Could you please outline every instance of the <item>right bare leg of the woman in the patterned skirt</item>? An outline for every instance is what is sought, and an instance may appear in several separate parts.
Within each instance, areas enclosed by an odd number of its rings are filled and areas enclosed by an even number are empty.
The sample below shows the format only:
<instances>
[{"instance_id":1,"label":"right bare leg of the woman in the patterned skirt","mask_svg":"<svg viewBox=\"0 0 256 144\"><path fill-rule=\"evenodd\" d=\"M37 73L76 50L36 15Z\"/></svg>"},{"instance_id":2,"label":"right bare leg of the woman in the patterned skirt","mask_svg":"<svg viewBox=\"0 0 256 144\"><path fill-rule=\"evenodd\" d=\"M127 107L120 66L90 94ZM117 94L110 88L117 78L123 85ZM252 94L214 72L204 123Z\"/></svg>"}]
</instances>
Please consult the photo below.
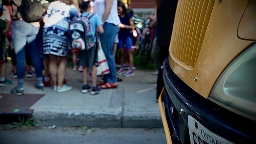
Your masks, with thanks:
<instances>
[{"instance_id":1,"label":"right bare leg of the woman in the patterned skirt","mask_svg":"<svg viewBox=\"0 0 256 144\"><path fill-rule=\"evenodd\" d=\"M58 87L63 87L63 80L66 74L66 57L59 57L59 67L57 71Z\"/></svg>"}]
</instances>

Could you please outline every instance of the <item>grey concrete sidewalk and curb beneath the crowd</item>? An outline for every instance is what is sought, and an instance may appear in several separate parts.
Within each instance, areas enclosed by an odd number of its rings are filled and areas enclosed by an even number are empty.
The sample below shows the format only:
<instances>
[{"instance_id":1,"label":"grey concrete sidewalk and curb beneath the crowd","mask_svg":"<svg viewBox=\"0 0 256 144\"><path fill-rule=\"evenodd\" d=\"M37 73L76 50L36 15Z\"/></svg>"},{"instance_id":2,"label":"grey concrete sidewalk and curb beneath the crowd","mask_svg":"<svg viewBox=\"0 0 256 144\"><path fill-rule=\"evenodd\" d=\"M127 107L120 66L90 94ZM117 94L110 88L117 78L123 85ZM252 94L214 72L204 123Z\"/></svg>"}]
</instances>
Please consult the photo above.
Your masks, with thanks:
<instances>
[{"instance_id":1,"label":"grey concrete sidewalk and curb beneath the crowd","mask_svg":"<svg viewBox=\"0 0 256 144\"><path fill-rule=\"evenodd\" d=\"M10 78L11 64L7 77ZM82 73L67 68L67 85L73 89L57 93L52 87L45 91L34 88L36 77L25 78L24 93L44 94L34 103L33 118L39 126L91 126L91 127L162 127L156 100L157 76L151 71L135 70L131 77L123 79L116 89L104 89L98 95L81 93ZM10 78L11 79L11 78ZM100 81L101 77L98 77ZM0 93L10 93L17 84L0 87ZM91 77L89 76L89 85Z\"/></svg>"}]
</instances>

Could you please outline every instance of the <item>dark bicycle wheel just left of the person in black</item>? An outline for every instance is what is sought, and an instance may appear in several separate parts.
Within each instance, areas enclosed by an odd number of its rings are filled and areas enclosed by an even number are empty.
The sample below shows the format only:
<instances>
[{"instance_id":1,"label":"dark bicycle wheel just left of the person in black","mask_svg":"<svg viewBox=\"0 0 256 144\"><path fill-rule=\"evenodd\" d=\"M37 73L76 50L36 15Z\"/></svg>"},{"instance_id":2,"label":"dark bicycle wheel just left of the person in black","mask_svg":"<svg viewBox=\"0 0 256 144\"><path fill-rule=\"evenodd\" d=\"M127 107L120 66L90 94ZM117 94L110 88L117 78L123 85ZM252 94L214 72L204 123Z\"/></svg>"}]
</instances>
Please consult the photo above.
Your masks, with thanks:
<instances>
[{"instance_id":1,"label":"dark bicycle wheel just left of the person in black","mask_svg":"<svg viewBox=\"0 0 256 144\"><path fill-rule=\"evenodd\" d=\"M140 63L147 65L151 57L152 40L150 38L145 40L144 47L141 48Z\"/></svg>"}]
</instances>

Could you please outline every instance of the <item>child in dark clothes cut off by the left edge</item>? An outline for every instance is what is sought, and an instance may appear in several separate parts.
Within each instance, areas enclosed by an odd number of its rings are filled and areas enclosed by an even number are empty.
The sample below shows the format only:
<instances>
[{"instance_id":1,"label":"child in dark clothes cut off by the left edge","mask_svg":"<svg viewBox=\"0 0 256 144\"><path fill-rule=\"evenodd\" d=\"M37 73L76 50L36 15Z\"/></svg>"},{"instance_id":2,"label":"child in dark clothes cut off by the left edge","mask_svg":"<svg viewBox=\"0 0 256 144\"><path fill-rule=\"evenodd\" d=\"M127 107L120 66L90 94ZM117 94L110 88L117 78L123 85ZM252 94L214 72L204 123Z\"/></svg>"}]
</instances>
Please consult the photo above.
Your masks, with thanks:
<instances>
[{"instance_id":1,"label":"child in dark clothes cut off by the left edge","mask_svg":"<svg viewBox=\"0 0 256 144\"><path fill-rule=\"evenodd\" d=\"M3 6L0 5L0 17L3 15ZM9 31L9 21L0 19L0 86L10 86L13 84L11 80L5 78L6 72L6 54L5 37Z\"/></svg>"}]
</instances>

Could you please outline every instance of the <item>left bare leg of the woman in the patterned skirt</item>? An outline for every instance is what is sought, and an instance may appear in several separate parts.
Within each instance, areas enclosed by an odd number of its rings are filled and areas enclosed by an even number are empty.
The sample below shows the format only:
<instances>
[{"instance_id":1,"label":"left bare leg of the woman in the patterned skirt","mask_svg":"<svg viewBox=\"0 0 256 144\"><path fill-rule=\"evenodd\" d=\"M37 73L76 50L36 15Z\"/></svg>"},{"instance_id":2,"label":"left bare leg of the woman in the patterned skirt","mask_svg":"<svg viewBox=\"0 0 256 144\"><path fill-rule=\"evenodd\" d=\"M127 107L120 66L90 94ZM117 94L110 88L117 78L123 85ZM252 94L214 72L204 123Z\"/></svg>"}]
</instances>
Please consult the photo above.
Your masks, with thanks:
<instances>
[{"instance_id":1,"label":"left bare leg of the woman in the patterned skirt","mask_svg":"<svg viewBox=\"0 0 256 144\"><path fill-rule=\"evenodd\" d=\"M50 72L51 78L53 80L54 86L57 85L57 71L58 71L57 56L50 55L49 72Z\"/></svg>"}]
</instances>

